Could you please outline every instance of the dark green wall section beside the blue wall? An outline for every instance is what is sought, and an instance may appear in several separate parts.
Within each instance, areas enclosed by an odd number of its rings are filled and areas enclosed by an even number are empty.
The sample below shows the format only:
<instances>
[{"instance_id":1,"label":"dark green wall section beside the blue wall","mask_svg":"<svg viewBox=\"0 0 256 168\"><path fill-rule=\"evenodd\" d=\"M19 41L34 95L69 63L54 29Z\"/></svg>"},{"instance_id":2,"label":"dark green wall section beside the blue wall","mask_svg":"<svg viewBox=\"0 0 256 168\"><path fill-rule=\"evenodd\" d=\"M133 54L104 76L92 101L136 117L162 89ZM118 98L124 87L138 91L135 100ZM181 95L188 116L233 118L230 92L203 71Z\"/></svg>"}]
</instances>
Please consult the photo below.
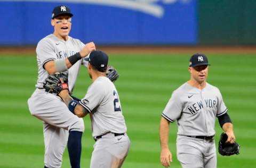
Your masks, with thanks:
<instances>
[{"instance_id":1,"label":"dark green wall section beside the blue wall","mask_svg":"<svg viewBox=\"0 0 256 168\"><path fill-rule=\"evenodd\" d=\"M198 11L198 44L256 44L256 1L198 1Z\"/></svg>"}]
</instances>

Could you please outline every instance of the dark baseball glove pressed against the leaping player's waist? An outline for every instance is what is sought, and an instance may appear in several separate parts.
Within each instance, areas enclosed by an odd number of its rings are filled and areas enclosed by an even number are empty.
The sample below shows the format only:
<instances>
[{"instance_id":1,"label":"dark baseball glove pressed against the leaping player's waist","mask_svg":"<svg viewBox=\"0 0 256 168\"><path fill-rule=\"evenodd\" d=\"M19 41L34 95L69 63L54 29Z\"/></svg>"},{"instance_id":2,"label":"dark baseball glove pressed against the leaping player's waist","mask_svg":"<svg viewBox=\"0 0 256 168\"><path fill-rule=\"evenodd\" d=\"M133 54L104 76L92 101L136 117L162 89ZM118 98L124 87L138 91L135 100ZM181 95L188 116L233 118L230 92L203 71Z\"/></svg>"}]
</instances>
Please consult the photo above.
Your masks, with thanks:
<instances>
[{"instance_id":1,"label":"dark baseball glove pressed against the leaping player's waist","mask_svg":"<svg viewBox=\"0 0 256 168\"><path fill-rule=\"evenodd\" d=\"M43 87L45 91L55 94L59 94L61 90L68 89L68 72L57 72L49 75L49 77L45 79Z\"/></svg>"}]
</instances>

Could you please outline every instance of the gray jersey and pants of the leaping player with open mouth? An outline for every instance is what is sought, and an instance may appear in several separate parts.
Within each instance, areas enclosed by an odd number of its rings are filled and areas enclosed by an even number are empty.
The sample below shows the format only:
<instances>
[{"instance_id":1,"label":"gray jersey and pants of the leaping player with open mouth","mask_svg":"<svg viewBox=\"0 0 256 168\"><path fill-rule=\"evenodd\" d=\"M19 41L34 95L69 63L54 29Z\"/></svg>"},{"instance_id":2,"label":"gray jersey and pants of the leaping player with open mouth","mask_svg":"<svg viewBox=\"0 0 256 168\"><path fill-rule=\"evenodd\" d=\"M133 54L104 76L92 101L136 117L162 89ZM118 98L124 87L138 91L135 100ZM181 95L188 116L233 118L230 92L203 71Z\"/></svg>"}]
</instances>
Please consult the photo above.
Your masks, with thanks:
<instances>
[{"instance_id":1,"label":"gray jersey and pants of the leaping player with open mouth","mask_svg":"<svg viewBox=\"0 0 256 168\"><path fill-rule=\"evenodd\" d=\"M61 167L62 155L65 151L68 131L84 131L83 119L72 114L59 96L46 93L43 82L49 73L44 69L44 64L50 60L67 58L81 51L84 44L72 37L67 41L58 39L51 34L39 41L36 47L38 80L36 90L28 99L29 111L32 115L43 121L45 155L44 163L47 167ZM68 69L68 85L72 91L77 74L84 60L77 61Z\"/></svg>"}]
</instances>

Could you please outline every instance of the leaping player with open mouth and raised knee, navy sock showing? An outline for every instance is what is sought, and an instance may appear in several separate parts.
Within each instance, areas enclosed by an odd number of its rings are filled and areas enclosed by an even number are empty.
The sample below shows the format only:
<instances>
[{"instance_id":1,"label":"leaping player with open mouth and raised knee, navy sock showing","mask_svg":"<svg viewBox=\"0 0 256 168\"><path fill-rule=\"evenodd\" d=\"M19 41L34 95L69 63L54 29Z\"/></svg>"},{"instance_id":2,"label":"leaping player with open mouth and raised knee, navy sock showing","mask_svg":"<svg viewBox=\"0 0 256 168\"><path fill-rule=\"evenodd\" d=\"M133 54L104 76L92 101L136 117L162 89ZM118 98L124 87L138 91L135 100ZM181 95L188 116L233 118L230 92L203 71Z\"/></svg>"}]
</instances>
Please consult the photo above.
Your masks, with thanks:
<instances>
[{"instance_id":1,"label":"leaping player with open mouth and raised knee, navy sock showing","mask_svg":"<svg viewBox=\"0 0 256 168\"><path fill-rule=\"evenodd\" d=\"M93 42L83 44L68 36L72 16L68 6L53 9L51 24L54 32L37 44L38 80L36 90L28 99L30 113L43 121L44 167L49 168L61 167L67 144L71 167L80 167L84 122L69 112L59 96L46 93L43 88L49 74L68 71L68 89L71 93L81 64L86 64L83 58L95 50Z\"/></svg>"}]
</instances>

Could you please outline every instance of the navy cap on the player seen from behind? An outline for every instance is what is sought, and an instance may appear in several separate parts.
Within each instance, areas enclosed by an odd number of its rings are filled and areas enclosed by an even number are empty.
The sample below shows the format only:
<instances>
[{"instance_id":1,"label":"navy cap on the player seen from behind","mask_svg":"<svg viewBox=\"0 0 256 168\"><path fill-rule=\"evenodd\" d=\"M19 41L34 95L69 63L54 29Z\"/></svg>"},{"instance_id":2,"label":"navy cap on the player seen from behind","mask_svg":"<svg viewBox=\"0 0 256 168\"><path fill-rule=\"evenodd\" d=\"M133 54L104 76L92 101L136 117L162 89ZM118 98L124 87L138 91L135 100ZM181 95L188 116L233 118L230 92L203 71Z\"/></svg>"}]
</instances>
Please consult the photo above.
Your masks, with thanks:
<instances>
[{"instance_id":1,"label":"navy cap on the player seen from behind","mask_svg":"<svg viewBox=\"0 0 256 168\"><path fill-rule=\"evenodd\" d=\"M84 60L89 61L100 72L105 72L108 67L108 55L99 50L91 52Z\"/></svg>"}]
</instances>

